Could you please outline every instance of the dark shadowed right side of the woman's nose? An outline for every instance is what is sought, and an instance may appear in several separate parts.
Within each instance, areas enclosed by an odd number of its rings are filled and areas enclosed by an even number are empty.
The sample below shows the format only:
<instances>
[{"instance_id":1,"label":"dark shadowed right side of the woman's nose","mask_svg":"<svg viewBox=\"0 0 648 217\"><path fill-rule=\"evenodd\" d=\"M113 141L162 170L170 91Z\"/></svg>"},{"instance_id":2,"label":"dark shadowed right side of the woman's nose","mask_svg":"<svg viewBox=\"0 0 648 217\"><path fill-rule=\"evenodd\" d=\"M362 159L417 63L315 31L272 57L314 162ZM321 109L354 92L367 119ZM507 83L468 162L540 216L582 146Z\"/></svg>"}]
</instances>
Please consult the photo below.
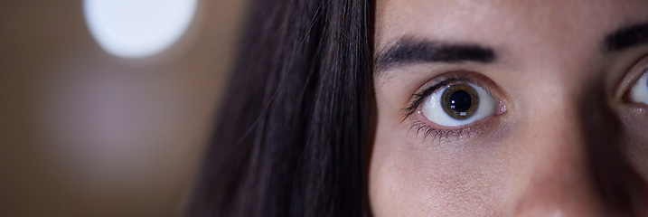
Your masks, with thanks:
<instances>
[{"instance_id":1,"label":"dark shadowed right side of the woman's nose","mask_svg":"<svg viewBox=\"0 0 648 217\"><path fill-rule=\"evenodd\" d=\"M645 207L646 186L627 159L623 127L603 91L590 87L579 100L589 176L608 212L637 216Z\"/></svg>"}]
</instances>

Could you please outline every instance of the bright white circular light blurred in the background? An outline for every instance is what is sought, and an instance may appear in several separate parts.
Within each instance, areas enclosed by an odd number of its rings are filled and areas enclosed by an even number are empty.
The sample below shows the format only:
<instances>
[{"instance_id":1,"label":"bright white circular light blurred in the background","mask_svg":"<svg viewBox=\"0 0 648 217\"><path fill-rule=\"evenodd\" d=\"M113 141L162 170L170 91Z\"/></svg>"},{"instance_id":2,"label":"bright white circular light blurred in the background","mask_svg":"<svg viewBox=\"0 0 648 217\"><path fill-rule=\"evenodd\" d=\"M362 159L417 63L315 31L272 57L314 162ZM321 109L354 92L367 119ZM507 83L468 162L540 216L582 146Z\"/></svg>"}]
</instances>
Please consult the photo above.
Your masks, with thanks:
<instances>
[{"instance_id":1,"label":"bright white circular light blurred in the background","mask_svg":"<svg viewBox=\"0 0 648 217\"><path fill-rule=\"evenodd\" d=\"M84 0L90 33L107 52L140 58L162 52L191 24L197 0Z\"/></svg>"}]
</instances>

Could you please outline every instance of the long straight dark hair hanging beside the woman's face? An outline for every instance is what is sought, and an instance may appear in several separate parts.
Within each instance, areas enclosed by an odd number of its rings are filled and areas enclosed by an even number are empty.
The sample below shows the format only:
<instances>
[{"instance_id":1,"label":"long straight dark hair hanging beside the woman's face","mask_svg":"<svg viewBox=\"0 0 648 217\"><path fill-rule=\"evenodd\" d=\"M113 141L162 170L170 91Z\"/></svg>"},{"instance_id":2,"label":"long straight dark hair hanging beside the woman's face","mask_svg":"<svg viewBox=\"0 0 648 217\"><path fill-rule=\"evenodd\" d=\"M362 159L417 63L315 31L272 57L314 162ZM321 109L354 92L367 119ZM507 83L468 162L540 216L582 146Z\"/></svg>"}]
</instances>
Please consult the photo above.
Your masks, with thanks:
<instances>
[{"instance_id":1,"label":"long straight dark hair hanging beside the woman's face","mask_svg":"<svg viewBox=\"0 0 648 217\"><path fill-rule=\"evenodd\" d=\"M361 216L374 4L256 0L189 216Z\"/></svg>"}]
</instances>

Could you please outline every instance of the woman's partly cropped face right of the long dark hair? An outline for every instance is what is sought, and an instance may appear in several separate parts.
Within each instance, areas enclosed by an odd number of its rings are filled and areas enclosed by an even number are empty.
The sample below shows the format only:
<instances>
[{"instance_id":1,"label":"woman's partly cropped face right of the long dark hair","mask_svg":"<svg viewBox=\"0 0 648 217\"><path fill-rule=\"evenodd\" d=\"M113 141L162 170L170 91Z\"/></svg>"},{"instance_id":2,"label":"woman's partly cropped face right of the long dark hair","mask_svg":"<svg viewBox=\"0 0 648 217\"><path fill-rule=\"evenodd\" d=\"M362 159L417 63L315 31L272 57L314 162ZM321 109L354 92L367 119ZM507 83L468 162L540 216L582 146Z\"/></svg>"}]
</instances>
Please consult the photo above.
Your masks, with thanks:
<instances>
[{"instance_id":1,"label":"woman's partly cropped face right of the long dark hair","mask_svg":"<svg viewBox=\"0 0 648 217\"><path fill-rule=\"evenodd\" d=\"M375 15L375 216L648 214L648 1Z\"/></svg>"}]
</instances>

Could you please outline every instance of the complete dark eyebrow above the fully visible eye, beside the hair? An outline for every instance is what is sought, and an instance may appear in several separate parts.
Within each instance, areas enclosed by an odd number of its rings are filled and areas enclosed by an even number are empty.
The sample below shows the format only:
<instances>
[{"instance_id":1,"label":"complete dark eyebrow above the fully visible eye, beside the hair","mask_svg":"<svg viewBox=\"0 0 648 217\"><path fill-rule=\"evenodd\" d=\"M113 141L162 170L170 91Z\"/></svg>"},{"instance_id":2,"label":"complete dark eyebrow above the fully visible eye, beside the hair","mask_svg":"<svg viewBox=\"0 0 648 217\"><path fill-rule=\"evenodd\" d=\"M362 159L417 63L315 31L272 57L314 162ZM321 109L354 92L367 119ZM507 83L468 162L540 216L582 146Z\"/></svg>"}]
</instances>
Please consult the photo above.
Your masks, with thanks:
<instances>
[{"instance_id":1,"label":"complete dark eyebrow above the fully visible eye, beside the hair","mask_svg":"<svg viewBox=\"0 0 648 217\"><path fill-rule=\"evenodd\" d=\"M402 64L422 62L458 63L495 61L493 49L473 43L442 43L401 38L374 58L375 71L386 71Z\"/></svg>"}]
</instances>

